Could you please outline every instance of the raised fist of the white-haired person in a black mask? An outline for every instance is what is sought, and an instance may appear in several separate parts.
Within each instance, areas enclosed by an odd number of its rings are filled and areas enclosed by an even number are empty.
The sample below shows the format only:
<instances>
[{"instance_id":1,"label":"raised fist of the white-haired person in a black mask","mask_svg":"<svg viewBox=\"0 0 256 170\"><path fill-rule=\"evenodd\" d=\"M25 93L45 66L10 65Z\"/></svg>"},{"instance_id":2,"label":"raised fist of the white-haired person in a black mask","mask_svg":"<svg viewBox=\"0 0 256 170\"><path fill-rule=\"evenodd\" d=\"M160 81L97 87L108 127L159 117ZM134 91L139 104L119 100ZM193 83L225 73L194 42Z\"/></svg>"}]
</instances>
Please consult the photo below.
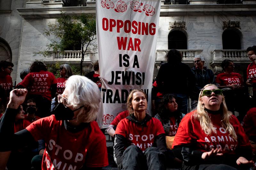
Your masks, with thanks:
<instances>
[{"instance_id":1,"label":"raised fist of the white-haired person in a black mask","mask_svg":"<svg viewBox=\"0 0 256 170\"><path fill-rule=\"evenodd\" d=\"M7 108L17 109L25 100L27 89L14 89L10 92L10 101Z\"/></svg>"}]
</instances>

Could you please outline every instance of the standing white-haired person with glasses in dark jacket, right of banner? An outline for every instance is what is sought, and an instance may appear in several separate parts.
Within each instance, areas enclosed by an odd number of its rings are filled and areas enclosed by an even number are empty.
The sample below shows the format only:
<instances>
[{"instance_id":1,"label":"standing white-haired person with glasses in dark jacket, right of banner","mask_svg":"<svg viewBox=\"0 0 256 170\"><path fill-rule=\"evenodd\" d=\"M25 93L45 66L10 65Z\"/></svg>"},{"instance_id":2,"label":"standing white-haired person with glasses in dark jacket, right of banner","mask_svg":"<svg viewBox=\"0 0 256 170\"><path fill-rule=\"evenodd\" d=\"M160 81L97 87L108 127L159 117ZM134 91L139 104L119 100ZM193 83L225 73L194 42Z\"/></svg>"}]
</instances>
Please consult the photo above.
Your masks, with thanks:
<instances>
[{"instance_id":1,"label":"standing white-haired person with glasses in dark jacket, right of banner","mask_svg":"<svg viewBox=\"0 0 256 170\"><path fill-rule=\"evenodd\" d=\"M194 76L196 78L196 86L192 90L192 92L190 92L192 109L195 109L197 106L197 102L198 102L197 99L198 99L200 89L202 89L204 85L215 83L215 77L212 70L204 67L205 62L206 60L202 55L196 55L194 58L193 63L195 64L195 66L191 70L194 73Z\"/></svg>"}]
</instances>

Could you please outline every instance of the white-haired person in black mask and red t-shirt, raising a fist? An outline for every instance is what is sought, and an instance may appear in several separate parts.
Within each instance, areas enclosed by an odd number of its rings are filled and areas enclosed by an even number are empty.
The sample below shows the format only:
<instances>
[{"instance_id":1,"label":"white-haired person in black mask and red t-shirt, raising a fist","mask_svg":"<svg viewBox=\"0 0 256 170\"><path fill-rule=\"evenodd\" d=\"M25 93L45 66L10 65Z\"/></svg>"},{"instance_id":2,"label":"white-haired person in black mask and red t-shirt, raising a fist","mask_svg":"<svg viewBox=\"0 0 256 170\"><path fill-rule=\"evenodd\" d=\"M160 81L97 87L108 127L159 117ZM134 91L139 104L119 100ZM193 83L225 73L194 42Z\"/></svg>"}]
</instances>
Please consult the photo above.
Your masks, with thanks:
<instances>
[{"instance_id":1,"label":"white-haired person in black mask and red t-shirt, raising a fist","mask_svg":"<svg viewBox=\"0 0 256 170\"><path fill-rule=\"evenodd\" d=\"M14 113L24 102L27 89L11 92L10 102L0 120L0 169L5 167L13 147L44 139L42 169L101 169L108 165L106 137L94 121L100 104L98 86L88 78L71 76L58 95L54 115L31 123L13 133Z\"/></svg>"}]
</instances>

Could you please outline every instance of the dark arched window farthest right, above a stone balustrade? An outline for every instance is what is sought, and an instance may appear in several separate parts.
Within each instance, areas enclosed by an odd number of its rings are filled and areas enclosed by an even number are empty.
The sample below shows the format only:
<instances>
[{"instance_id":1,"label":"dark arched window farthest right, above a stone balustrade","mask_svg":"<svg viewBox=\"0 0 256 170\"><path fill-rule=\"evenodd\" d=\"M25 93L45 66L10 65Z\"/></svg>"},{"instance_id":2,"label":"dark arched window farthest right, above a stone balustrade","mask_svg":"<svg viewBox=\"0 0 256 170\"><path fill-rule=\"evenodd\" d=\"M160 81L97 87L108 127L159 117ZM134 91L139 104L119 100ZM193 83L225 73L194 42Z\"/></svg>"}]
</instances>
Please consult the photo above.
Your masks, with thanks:
<instances>
[{"instance_id":1,"label":"dark arched window farthest right, above a stone balustrade","mask_svg":"<svg viewBox=\"0 0 256 170\"><path fill-rule=\"evenodd\" d=\"M234 29L226 29L222 33L222 47L223 49L241 49L242 33Z\"/></svg>"}]
</instances>

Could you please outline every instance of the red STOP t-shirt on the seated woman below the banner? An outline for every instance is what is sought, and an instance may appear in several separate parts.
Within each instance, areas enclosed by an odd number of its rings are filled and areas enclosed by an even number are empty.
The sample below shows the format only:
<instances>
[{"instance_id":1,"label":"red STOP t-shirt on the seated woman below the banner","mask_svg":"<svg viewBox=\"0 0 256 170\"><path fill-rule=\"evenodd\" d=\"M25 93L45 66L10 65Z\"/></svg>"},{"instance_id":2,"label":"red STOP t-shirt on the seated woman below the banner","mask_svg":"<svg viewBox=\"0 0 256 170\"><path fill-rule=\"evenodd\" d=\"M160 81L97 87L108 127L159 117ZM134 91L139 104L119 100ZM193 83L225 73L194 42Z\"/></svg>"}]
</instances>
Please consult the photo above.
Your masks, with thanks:
<instances>
[{"instance_id":1,"label":"red STOP t-shirt on the seated woman below the banner","mask_svg":"<svg viewBox=\"0 0 256 170\"><path fill-rule=\"evenodd\" d=\"M161 122L153 117L143 127L125 118L118 123L115 134L124 136L129 144L138 146L144 152L153 146L158 135L164 134L164 128Z\"/></svg>"}]
</instances>

